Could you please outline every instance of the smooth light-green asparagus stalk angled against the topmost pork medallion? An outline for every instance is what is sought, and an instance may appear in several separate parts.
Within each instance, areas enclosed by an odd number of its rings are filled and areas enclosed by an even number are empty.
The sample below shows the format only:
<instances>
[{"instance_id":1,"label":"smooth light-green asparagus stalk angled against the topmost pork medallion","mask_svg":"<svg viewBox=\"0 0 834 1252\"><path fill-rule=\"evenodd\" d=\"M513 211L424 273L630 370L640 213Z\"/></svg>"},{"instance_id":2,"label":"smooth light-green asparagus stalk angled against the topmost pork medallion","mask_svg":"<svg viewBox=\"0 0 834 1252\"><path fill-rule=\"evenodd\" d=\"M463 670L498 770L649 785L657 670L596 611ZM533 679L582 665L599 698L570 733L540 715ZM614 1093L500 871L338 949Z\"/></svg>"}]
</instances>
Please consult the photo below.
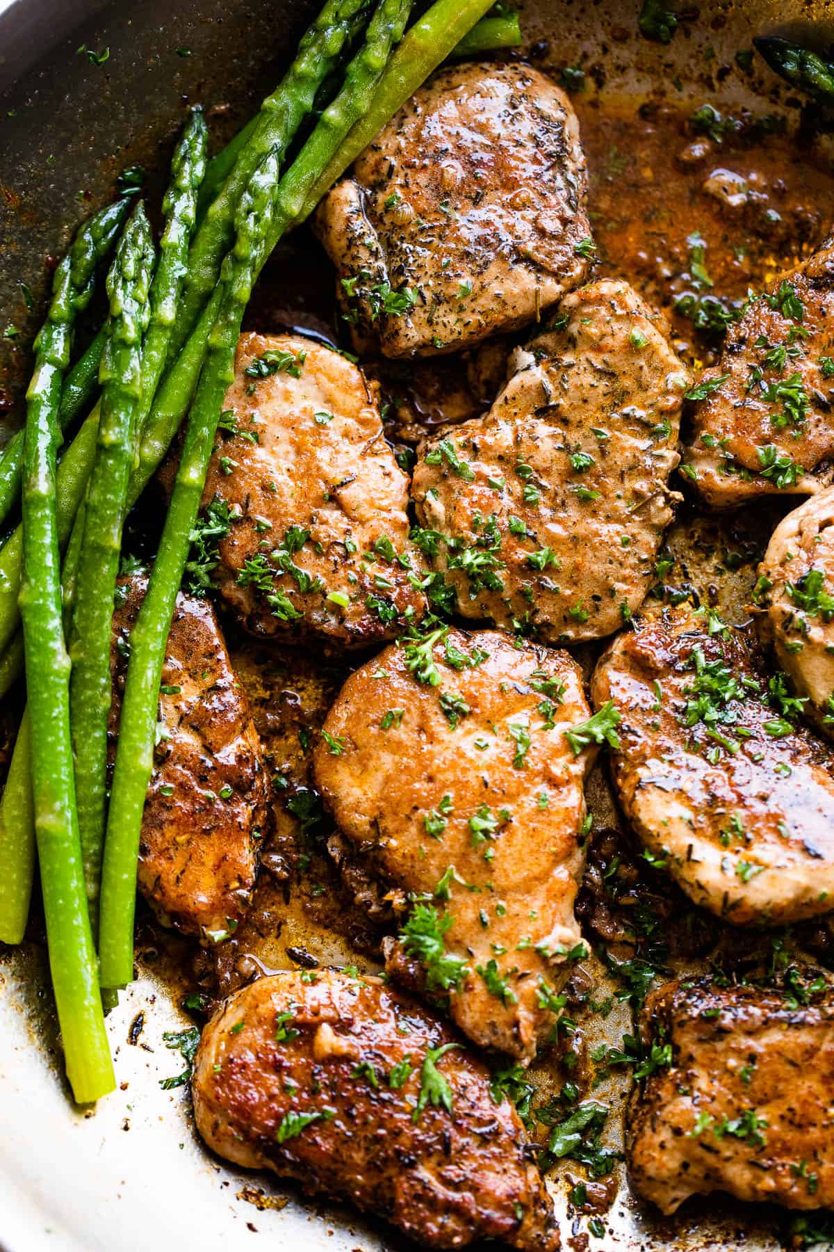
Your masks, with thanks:
<instances>
[{"instance_id":1,"label":"smooth light-green asparagus stalk angled against the topmost pork medallion","mask_svg":"<svg viewBox=\"0 0 834 1252\"><path fill-rule=\"evenodd\" d=\"M414 23L388 63L370 106L313 182L295 218L296 223L309 218L336 179L373 143L398 109L446 59L493 3L494 0L435 0Z\"/></svg>"}]
</instances>

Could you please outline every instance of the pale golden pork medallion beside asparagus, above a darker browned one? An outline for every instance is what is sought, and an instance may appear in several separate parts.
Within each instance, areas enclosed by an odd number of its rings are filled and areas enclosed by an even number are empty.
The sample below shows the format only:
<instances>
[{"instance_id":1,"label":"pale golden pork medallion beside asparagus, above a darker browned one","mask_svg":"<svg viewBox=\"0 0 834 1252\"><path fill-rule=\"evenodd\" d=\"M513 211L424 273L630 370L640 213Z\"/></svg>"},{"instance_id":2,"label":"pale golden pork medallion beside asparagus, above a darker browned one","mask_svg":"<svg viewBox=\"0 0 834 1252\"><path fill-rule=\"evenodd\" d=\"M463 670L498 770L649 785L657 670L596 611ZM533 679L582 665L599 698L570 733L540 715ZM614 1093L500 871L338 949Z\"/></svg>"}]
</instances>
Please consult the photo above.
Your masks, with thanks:
<instances>
[{"instance_id":1,"label":"pale golden pork medallion beside asparagus, above a darker browned one","mask_svg":"<svg viewBox=\"0 0 834 1252\"><path fill-rule=\"evenodd\" d=\"M246 630L363 647L419 617L406 503L361 371L310 339L241 336L203 513Z\"/></svg>"}]
</instances>

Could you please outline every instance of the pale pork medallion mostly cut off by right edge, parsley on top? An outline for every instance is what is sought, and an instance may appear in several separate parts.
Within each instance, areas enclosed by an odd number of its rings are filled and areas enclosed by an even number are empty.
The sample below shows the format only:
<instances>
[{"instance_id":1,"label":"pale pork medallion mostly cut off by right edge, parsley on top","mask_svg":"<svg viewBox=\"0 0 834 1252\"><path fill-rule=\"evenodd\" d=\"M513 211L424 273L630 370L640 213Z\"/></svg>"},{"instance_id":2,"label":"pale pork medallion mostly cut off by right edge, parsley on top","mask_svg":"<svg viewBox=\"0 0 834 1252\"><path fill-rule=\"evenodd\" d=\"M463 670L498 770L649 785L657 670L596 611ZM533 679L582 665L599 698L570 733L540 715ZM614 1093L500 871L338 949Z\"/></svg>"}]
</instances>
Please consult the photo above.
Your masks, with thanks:
<instances>
[{"instance_id":1,"label":"pale pork medallion mostly cut off by right edge, parsley on top","mask_svg":"<svg viewBox=\"0 0 834 1252\"><path fill-rule=\"evenodd\" d=\"M759 567L765 639L805 712L834 736L834 488L788 513Z\"/></svg>"}]
</instances>

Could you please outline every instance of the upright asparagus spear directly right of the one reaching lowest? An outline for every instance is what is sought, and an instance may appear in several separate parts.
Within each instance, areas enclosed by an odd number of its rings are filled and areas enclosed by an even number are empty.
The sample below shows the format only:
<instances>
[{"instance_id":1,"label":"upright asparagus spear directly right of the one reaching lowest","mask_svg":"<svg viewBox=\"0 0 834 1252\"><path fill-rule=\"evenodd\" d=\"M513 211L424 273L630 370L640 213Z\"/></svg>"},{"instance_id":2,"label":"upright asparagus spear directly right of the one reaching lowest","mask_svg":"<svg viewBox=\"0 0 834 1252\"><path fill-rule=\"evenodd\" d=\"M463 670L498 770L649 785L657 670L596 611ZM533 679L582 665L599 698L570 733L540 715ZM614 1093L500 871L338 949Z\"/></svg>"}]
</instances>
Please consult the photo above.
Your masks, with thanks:
<instances>
[{"instance_id":1,"label":"upright asparagus spear directly right of the one reaching lowest","mask_svg":"<svg viewBox=\"0 0 834 1252\"><path fill-rule=\"evenodd\" d=\"M108 274L110 316L99 381L101 413L88 486L70 630L70 726L84 878L95 934L105 824L110 634L128 483L136 457L143 337L150 318L154 240L136 204ZM165 344L163 343L163 353Z\"/></svg>"}]
</instances>

